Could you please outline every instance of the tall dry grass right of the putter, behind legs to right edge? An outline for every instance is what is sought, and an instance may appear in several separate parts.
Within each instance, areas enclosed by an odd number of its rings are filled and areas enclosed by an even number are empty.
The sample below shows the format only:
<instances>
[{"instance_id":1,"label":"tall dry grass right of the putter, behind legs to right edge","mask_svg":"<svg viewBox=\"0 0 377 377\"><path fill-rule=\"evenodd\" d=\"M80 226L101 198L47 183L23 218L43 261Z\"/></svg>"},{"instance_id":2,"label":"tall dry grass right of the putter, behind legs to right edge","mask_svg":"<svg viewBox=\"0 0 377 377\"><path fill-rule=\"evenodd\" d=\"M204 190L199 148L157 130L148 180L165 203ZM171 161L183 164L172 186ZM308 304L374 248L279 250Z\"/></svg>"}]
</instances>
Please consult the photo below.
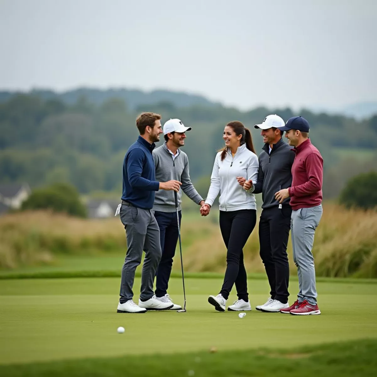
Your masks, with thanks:
<instances>
[{"instance_id":1,"label":"tall dry grass right of the putter, behind legs to right edge","mask_svg":"<svg viewBox=\"0 0 377 377\"><path fill-rule=\"evenodd\" d=\"M224 272L226 249L219 227L211 224L207 231L204 238L196 239L185 250L185 265L189 271ZM182 229L184 236L185 229ZM377 212L324 204L313 254L318 276L377 277ZM291 273L296 274L290 241L288 257ZM244 248L244 260L247 272L264 271L259 257L257 226ZM177 270L178 262L175 261Z\"/></svg>"}]
</instances>

